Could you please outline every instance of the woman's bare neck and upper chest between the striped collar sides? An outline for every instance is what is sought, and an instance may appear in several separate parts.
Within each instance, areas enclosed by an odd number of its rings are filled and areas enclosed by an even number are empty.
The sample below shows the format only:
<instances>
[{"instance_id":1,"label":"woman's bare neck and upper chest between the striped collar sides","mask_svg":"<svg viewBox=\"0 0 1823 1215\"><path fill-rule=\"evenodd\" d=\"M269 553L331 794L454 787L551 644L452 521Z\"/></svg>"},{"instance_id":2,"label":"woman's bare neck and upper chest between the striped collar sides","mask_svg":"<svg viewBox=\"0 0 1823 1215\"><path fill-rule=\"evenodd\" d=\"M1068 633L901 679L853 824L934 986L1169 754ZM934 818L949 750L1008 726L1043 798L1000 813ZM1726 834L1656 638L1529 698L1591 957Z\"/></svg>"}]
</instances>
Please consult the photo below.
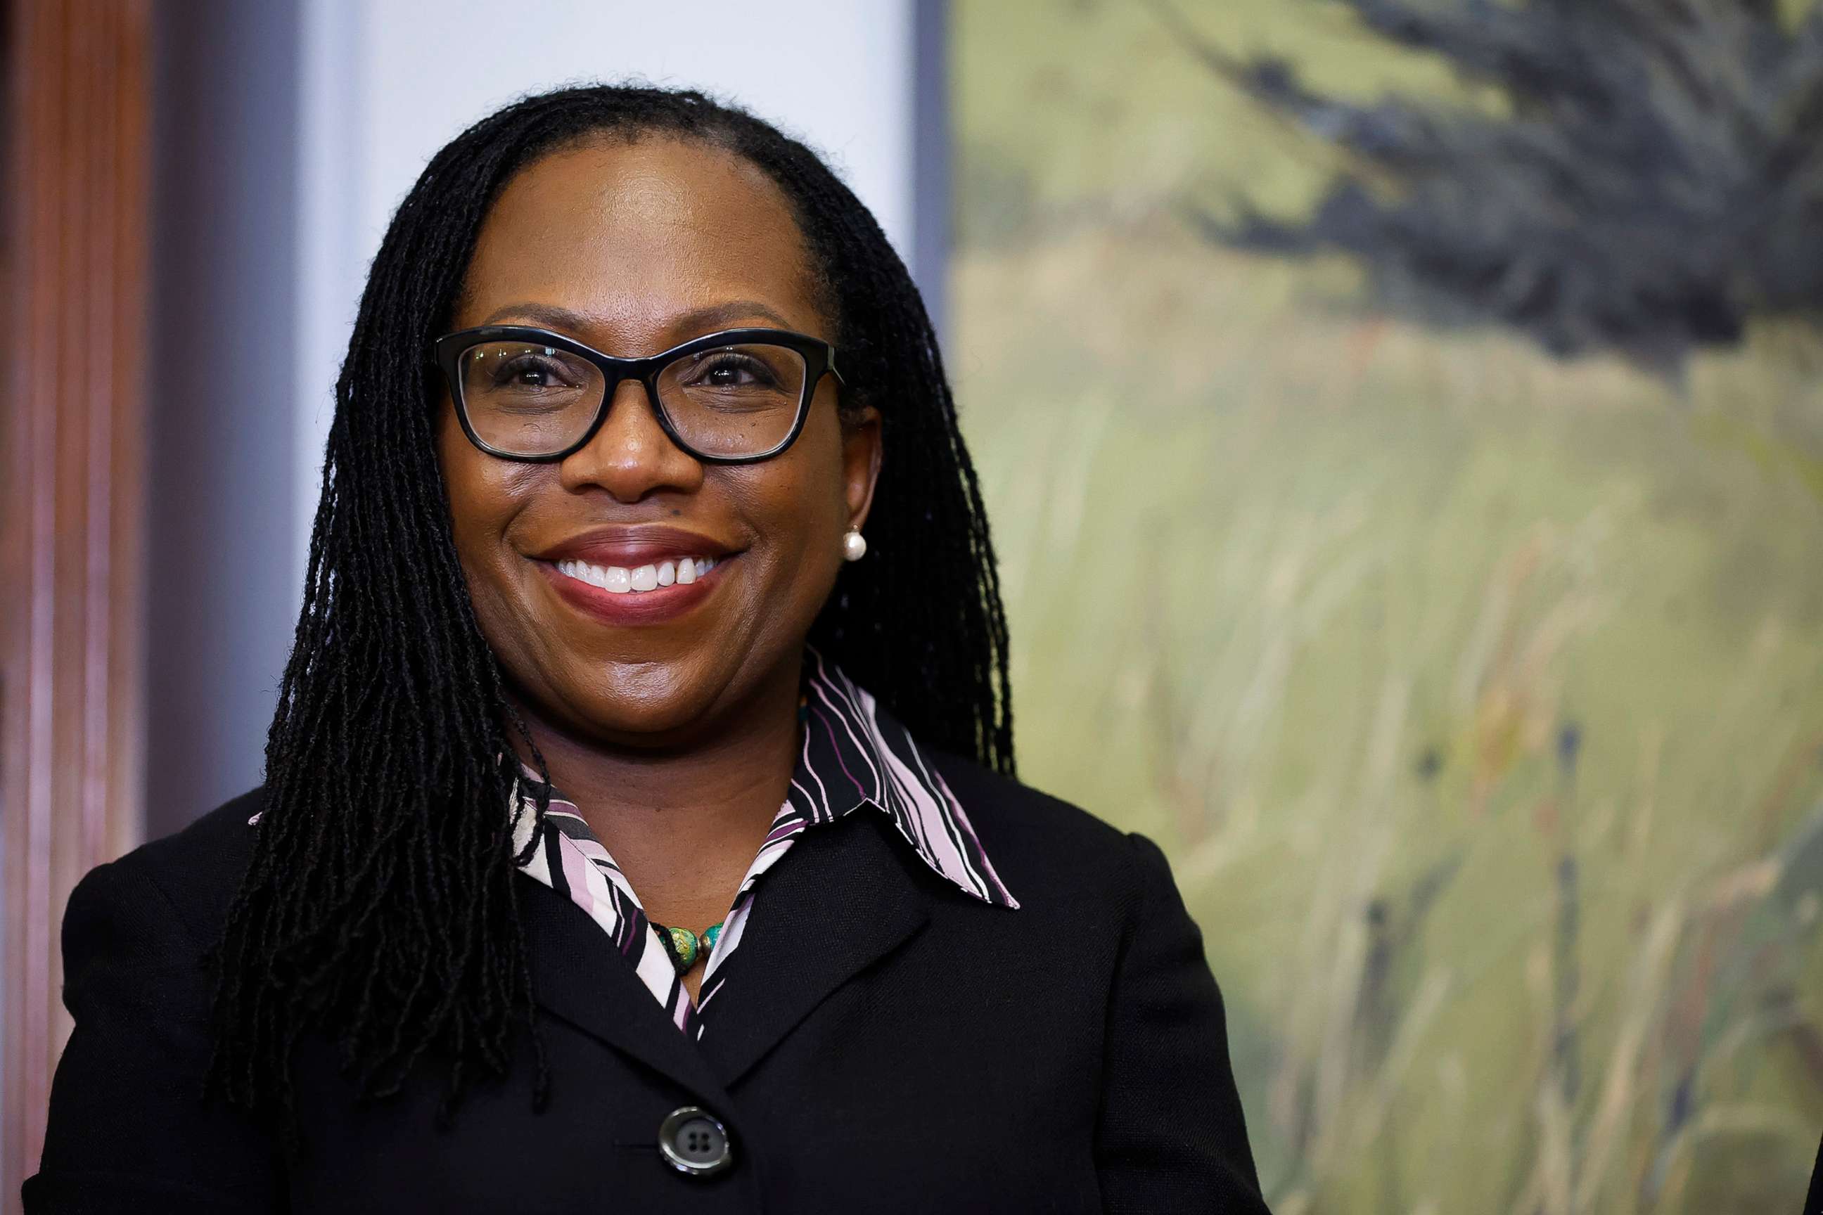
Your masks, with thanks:
<instances>
[{"instance_id":1,"label":"woman's bare neck and upper chest between the striped collar sides","mask_svg":"<svg viewBox=\"0 0 1823 1215\"><path fill-rule=\"evenodd\" d=\"M552 785L658 924L700 931L727 914L791 785L798 679L788 663L722 729L664 750L605 747L520 709Z\"/></svg>"}]
</instances>

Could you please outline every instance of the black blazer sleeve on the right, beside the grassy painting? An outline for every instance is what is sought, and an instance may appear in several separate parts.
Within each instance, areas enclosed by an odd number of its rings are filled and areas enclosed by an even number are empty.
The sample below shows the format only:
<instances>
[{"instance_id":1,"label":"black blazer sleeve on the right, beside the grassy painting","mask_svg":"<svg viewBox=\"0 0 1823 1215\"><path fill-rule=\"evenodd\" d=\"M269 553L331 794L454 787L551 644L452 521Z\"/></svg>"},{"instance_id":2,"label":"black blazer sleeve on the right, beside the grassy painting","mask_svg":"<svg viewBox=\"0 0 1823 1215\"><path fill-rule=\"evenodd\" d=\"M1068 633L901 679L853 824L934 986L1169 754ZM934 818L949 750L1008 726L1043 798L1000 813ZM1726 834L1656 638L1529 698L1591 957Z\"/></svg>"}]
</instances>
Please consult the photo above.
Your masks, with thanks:
<instances>
[{"instance_id":1,"label":"black blazer sleeve on the right, beside the grassy painting","mask_svg":"<svg viewBox=\"0 0 1823 1215\"><path fill-rule=\"evenodd\" d=\"M1170 863L1128 836L1139 880L1108 1009L1096 1168L1103 1210L1267 1210L1229 1066L1221 993Z\"/></svg>"}]
</instances>

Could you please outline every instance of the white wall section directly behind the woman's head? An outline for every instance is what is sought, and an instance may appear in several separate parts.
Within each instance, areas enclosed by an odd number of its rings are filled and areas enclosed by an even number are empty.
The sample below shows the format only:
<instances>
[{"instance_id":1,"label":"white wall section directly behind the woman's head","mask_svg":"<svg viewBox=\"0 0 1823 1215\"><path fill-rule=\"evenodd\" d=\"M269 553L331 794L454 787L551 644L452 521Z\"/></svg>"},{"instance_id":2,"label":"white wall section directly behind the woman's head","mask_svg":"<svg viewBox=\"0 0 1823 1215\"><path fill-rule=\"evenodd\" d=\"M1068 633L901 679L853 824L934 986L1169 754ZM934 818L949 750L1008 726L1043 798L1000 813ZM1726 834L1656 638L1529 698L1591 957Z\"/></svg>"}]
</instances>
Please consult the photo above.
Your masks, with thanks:
<instances>
[{"instance_id":1,"label":"white wall section directly behind the woman's head","mask_svg":"<svg viewBox=\"0 0 1823 1215\"><path fill-rule=\"evenodd\" d=\"M913 0L303 0L297 577L366 264L441 144L503 102L565 82L700 87L824 153L910 260L913 9Z\"/></svg>"}]
</instances>

